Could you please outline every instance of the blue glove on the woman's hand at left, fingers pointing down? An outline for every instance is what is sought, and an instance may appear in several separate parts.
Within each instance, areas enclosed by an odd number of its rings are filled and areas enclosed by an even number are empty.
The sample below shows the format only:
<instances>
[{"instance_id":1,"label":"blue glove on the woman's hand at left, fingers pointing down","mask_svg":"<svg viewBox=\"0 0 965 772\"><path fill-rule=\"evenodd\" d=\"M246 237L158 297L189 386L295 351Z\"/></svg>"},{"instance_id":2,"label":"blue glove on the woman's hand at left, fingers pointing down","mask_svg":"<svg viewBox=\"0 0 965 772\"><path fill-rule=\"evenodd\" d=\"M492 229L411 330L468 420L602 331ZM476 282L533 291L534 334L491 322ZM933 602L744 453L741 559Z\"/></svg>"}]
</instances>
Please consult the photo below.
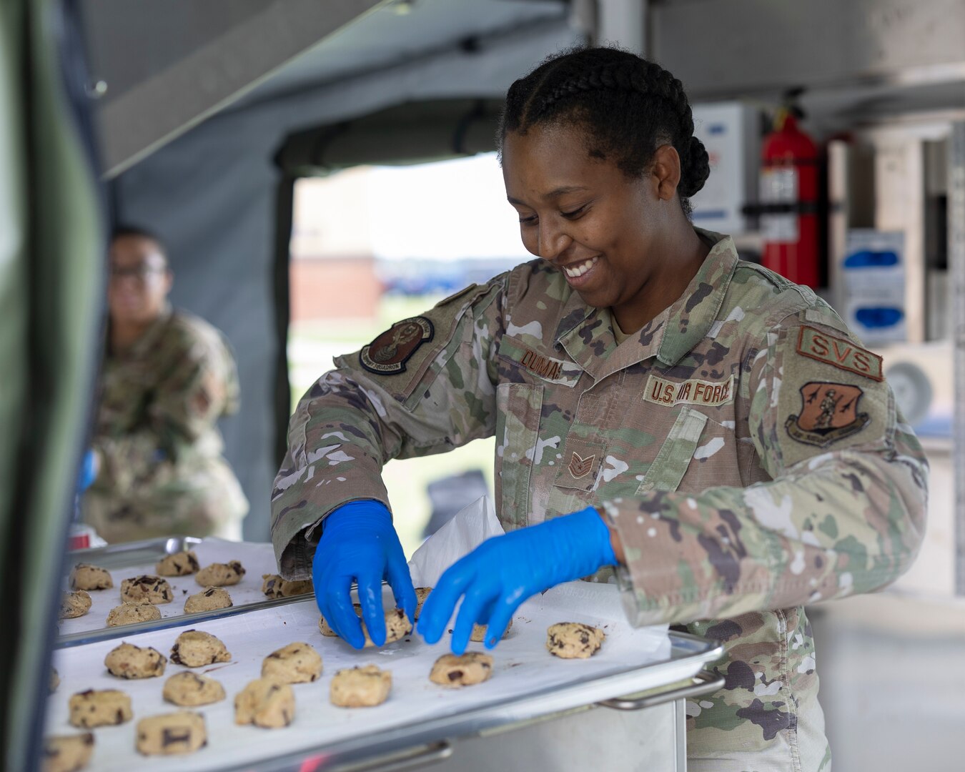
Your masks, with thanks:
<instances>
[{"instance_id":1,"label":"blue glove on the woman's hand at left, fingers pointing down","mask_svg":"<svg viewBox=\"0 0 965 772\"><path fill-rule=\"evenodd\" d=\"M362 626L352 609L352 580L358 583L362 618L375 646L385 643L382 579L388 579L396 605L409 620L415 616L416 591L392 514L377 501L353 501L332 511L321 527L312 579L321 616L355 648L365 645Z\"/></svg>"}]
</instances>

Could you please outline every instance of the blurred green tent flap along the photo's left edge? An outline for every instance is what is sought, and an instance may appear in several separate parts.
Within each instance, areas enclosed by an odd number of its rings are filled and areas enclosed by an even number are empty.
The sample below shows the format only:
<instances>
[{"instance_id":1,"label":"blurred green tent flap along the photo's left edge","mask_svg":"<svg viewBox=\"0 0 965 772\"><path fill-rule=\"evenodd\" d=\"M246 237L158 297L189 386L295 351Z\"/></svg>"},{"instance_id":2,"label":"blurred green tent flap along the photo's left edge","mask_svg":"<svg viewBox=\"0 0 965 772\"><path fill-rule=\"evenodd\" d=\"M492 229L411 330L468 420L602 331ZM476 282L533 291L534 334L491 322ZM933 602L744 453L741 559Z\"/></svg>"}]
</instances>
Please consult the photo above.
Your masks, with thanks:
<instances>
[{"instance_id":1,"label":"blurred green tent flap along the photo's left edge","mask_svg":"<svg viewBox=\"0 0 965 772\"><path fill-rule=\"evenodd\" d=\"M0 4L0 766L11 770L39 766L103 305L102 202L74 8Z\"/></svg>"}]
</instances>

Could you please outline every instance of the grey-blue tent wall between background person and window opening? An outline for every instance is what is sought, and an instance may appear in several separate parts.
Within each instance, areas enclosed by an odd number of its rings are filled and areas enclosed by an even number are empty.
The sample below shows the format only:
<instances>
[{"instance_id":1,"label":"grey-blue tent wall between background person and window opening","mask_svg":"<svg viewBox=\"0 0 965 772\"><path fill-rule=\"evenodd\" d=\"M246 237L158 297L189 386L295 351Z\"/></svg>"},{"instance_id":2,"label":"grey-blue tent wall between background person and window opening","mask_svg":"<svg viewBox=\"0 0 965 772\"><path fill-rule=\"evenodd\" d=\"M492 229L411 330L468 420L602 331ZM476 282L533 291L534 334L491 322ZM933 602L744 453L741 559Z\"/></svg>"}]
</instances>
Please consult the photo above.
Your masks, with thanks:
<instances>
[{"instance_id":1,"label":"grey-blue tent wall between background person and window opening","mask_svg":"<svg viewBox=\"0 0 965 772\"><path fill-rule=\"evenodd\" d=\"M270 129L268 129L270 130ZM262 126L202 124L114 184L115 216L167 244L171 299L222 330L234 349L241 411L221 424L226 456L251 503L246 538L267 540L273 457L271 256L276 173Z\"/></svg>"}]
</instances>

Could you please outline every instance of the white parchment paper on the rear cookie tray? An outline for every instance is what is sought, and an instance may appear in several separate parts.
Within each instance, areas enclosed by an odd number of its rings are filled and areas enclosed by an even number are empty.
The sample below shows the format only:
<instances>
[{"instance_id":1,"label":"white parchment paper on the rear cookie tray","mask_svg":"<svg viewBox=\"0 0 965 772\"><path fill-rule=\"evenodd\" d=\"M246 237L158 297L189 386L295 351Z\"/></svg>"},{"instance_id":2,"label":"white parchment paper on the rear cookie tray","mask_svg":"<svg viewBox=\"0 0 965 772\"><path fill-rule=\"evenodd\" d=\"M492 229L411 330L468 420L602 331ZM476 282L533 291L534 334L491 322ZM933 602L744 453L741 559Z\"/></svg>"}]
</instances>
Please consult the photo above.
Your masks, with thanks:
<instances>
[{"instance_id":1,"label":"white parchment paper on the rear cookie tray","mask_svg":"<svg viewBox=\"0 0 965 772\"><path fill-rule=\"evenodd\" d=\"M245 569L245 575L236 585L225 588L232 596L232 602L235 606L259 603L266 599L264 593L262 593L262 574L278 573L271 544L229 541L223 538L210 537L203 539L192 549L198 556L198 563L201 564L202 568L212 563L241 562ZM159 554L158 559L160 557L162 555ZM86 556L83 551L70 553L68 570L78 563L95 563L95 560L93 556ZM103 567L110 571L111 578L114 579L114 587L110 590L87 591L91 595L91 610L83 617L77 617L73 620L60 620L60 634L67 636L106 627L107 615L110 610L124 602L121 599L121 582L124 579L141 574L153 574L155 562L124 566L123 568L104 565ZM97 564L95 563L95 565ZM157 606L157 609L161 612L162 620L182 616L184 614L184 601L187 597L204 590L194 577L195 574L164 577L171 585L175 599L170 603L161 603ZM65 580L64 589L68 589L67 580ZM123 628L110 629L121 630Z\"/></svg>"}]
</instances>

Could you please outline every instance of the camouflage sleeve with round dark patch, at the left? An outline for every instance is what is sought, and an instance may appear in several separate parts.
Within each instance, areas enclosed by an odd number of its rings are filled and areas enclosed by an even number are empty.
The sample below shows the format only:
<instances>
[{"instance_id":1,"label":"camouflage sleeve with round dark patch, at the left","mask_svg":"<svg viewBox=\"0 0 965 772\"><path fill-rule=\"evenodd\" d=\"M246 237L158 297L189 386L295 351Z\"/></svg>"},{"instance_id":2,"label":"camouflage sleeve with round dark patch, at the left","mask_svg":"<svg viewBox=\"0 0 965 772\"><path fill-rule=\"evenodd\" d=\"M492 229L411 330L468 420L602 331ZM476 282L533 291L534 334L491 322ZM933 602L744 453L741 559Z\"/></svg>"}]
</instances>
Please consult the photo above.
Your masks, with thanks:
<instances>
[{"instance_id":1,"label":"camouflage sleeve with round dark patch, at the left","mask_svg":"<svg viewBox=\"0 0 965 772\"><path fill-rule=\"evenodd\" d=\"M336 359L299 401L271 494L283 576L311 575L316 526L359 499L389 506L392 458L443 453L495 427L495 350L505 278L473 285Z\"/></svg>"}]
</instances>

